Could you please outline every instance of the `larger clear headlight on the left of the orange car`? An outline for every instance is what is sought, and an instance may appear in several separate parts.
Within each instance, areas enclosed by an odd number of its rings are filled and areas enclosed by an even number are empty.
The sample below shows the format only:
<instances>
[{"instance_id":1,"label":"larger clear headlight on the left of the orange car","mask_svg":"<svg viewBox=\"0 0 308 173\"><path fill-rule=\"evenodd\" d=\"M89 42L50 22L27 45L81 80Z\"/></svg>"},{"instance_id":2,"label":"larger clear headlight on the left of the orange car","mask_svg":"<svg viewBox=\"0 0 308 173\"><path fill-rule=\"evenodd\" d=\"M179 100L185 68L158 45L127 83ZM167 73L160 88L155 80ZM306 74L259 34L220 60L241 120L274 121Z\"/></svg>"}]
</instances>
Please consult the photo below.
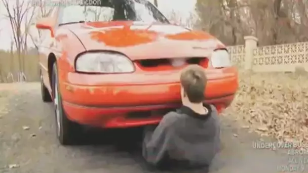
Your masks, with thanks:
<instances>
[{"instance_id":1,"label":"larger clear headlight on the left of the orange car","mask_svg":"<svg viewBox=\"0 0 308 173\"><path fill-rule=\"evenodd\" d=\"M129 73L135 70L132 61L117 53L85 53L76 59L75 69L88 73Z\"/></svg>"}]
</instances>

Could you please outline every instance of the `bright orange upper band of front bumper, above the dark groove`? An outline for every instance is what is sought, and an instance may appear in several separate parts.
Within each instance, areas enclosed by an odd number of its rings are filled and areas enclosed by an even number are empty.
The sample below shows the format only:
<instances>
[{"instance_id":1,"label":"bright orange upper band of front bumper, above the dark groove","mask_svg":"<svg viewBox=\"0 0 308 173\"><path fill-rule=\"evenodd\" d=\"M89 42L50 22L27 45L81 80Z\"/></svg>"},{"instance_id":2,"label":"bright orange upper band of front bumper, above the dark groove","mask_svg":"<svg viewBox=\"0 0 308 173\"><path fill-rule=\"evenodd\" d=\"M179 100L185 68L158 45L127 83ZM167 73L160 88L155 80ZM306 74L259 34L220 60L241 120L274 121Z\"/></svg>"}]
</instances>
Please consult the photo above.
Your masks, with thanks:
<instances>
[{"instance_id":1,"label":"bright orange upper band of front bumper, above the dark groove","mask_svg":"<svg viewBox=\"0 0 308 173\"><path fill-rule=\"evenodd\" d=\"M207 99L233 95L238 89L236 76L210 79L207 83ZM135 84L119 83L105 85L72 84L60 82L62 99L84 106L135 106L180 102L180 83Z\"/></svg>"}]
</instances>

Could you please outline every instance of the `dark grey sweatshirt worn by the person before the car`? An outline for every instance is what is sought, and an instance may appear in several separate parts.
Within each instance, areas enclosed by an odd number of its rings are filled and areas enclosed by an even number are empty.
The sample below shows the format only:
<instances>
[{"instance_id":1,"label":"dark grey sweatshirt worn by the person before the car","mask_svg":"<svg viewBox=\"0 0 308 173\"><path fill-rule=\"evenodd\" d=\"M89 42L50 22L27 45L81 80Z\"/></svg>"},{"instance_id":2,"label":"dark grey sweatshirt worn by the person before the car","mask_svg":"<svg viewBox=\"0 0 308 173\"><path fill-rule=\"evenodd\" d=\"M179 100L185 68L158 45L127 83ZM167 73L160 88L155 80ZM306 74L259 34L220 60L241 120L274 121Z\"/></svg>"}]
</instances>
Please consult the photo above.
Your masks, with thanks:
<instances>
[{"instance_id":1,"label":"dark grey sweatshirt worn by the person before the car","mask_svg":"<svg viewBox=\"0 0 308 173\"><path fill-rule=\"evenodd\" d=\"M159 125L145 129L142 154L158 168L209 167L220 146L220 126L214 106L207 114L186 106L166 114Z\"/></svg>"}]
</instances>

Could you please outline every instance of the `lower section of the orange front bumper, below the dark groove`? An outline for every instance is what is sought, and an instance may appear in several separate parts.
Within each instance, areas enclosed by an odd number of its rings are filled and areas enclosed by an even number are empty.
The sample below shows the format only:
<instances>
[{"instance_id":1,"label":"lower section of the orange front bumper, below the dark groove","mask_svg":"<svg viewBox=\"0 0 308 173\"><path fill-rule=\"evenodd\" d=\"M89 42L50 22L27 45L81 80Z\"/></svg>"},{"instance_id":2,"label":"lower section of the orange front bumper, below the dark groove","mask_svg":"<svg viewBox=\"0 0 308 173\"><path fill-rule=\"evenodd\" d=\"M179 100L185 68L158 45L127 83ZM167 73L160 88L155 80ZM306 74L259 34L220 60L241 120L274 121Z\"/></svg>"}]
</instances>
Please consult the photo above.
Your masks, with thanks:
<instances>
[{"instance_id":1,"label":"lower section of the orange front bumper, below the dark groove","mask_svg":"<svg viewBox=\"0 0 308 173\"><path fill-rule=\"evenodd\" d=\"M216 106L218 112L232 103L234 95L206 100ZM160 104L143 106L82 106L63 102L67 117L75 122L103 128L135 127L158 124L163 115L179 108L181 104Z\"/></svg>"}]
</instances>

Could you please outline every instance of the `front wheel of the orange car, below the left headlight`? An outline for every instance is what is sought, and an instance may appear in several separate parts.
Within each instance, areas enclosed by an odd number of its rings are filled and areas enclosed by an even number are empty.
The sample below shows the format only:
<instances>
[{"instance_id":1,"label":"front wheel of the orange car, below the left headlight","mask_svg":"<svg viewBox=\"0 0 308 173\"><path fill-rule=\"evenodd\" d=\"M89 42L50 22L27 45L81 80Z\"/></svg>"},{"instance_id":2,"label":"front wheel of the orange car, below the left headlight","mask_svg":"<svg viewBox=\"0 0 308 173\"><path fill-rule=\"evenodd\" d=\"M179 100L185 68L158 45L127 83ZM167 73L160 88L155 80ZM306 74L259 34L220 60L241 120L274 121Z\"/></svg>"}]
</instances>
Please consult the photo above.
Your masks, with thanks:
<instances>
[{"instance_id":1,"label":"front wheel of the orange car, below the left headlight","mask_svg":"<svg viewBox=\"0 0 308 173\"><path fill-rule=\"evenodd\" d=\"M82 135L82 126L69 120L63 110L62 99L59 90L58 68L57 64L53 65L52 88L55 106L56 134L61 145L76 144Z\"/></svg>"}]
</instances>

